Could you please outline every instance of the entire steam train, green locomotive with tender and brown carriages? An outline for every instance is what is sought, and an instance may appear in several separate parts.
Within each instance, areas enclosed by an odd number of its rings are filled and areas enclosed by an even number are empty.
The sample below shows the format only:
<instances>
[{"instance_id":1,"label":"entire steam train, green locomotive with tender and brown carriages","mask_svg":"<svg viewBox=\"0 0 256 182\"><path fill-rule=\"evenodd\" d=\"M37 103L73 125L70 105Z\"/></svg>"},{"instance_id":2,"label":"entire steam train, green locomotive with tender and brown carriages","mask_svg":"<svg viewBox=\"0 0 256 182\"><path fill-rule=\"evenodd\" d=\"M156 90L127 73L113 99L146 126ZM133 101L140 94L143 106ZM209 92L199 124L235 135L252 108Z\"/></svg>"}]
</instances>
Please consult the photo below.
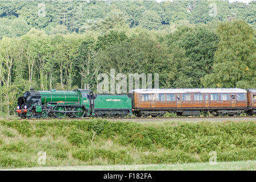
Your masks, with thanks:
<instances>
[{"instance_id":1,"label":"entire steam train, green locomotive with tender and brown carriages","mask_svg":"<svg viewBox=\"0 0 256 182\"><path fill-rule=\"evenodd\" d=\"M256 89L135 89L129 94L95 94L89 89L35 91L18 98L21 118L163 117L256 114Z\"/></svg>"}]
</instances>

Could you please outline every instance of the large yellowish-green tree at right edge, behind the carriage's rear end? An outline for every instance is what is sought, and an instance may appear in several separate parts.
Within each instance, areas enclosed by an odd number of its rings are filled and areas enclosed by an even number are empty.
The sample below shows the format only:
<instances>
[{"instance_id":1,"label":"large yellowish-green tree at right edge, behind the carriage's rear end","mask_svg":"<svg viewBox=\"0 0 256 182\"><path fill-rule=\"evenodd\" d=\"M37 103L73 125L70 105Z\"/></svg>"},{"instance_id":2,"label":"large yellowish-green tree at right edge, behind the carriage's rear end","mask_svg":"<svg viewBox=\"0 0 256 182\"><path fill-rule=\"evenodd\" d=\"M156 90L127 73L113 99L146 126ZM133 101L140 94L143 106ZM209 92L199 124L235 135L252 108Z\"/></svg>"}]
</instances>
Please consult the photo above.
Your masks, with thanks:
<instances>
[{"instance_id":1,"label":"large yellowish-green tree at right edge, behind the carriage's rear end","mask_svg":"<svg viewBox=\"0 0 256 182\"><path fill-rule=\"evenodd\" d=\"M204 86L254 88L256 86L256 44L254 30L246 22L221 23L220 42L215 52L213 72L202 78Z\"/></svg>"}]
</instances>

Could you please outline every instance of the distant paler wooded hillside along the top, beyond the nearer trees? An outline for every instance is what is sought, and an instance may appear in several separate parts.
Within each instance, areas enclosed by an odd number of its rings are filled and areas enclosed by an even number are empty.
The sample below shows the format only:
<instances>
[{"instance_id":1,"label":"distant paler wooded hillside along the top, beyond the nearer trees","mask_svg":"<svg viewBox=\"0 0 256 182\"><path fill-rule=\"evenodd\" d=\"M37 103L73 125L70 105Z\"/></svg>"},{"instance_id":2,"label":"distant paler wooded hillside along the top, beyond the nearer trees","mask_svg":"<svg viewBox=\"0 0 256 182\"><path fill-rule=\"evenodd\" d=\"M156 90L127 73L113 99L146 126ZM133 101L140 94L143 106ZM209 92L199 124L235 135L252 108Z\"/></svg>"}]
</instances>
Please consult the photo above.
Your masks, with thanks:
<instances>
[{"instance_id":1,"label":"distant paler wooded hillside along the top, beyond the nearer trees","mask_svg":"<svg viewBox=\"0 0 256 182\"><path fill-rule=\"evenodd\" d=\"M228 1L1 1L0 38L46 34L105 33L114 26L172 32L178 26L241 19L256 26L256 2Z\"/></svg>"}]
</instances>

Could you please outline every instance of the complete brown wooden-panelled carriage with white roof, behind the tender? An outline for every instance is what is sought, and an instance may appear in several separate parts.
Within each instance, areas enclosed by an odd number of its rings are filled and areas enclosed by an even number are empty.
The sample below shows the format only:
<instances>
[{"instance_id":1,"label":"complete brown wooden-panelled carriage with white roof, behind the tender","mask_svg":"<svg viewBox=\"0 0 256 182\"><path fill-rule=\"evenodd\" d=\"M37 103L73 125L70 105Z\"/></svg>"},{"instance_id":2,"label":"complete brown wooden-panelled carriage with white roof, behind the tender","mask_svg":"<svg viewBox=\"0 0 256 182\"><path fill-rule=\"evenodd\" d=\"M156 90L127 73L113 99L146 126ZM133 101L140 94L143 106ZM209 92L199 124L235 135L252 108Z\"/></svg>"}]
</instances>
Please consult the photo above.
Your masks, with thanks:
<instances>
[{"instance_id":1,"label":"complete brown wooden-panelled carriage with white roof, behind the tender","mask_svg":"<svg viewBox=\"0 0 256 182\"><path fill-rule=\"evenodd\" d=\"M162 117L166 112L199 115L207 111L213 115L240 115L247 109L247 91L238 88L135 89L129 94L133 98L134 114L138 117Z\"/></svg>"}]
</instances>

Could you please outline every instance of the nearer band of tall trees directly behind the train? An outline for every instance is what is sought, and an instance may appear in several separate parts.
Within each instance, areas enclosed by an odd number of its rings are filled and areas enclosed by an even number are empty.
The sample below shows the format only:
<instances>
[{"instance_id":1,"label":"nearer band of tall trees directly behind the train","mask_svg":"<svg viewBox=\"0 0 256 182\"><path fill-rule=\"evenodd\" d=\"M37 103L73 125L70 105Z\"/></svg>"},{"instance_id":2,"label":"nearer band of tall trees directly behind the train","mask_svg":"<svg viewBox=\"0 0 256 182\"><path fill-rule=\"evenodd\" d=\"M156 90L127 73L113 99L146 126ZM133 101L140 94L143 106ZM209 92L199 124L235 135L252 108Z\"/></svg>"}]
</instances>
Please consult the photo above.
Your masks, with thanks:
<instances>
[{"instance_id":1,"label":"nearer band of tall trees directly behind the train","mask_svg":"<svg viewBox=\"0 0 256 182\"><path fill-rule=\"evenodd\" d=\"M97 76L159 73L160 88L255 88L254 29L243 22L181 26L172 33L117 26L105 34L47 35L30 30L0 42L0 111L35 90L89 88ZM154 82L154 80L153 80Z\"/></svg>"}]
</instances>

